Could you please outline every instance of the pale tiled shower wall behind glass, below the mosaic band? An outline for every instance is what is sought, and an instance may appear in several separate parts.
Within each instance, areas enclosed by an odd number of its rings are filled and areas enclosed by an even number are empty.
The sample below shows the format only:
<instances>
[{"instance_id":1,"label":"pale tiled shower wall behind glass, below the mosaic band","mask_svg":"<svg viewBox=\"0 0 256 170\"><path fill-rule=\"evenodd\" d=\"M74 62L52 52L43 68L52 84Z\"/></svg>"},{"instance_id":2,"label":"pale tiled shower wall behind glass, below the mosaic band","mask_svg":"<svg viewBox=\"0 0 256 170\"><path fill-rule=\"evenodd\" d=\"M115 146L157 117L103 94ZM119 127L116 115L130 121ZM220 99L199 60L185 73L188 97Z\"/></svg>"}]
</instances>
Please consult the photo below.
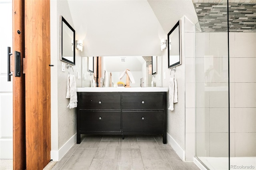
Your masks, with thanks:
<instances>
[{"instance_id":1,"label":"pale tiled shower wall behind glass, below the mosaic band","mask_svg":"<svg viewBox=\"0 0 256 170\"><path fill-rule=\"evenodd\" d=\"M196 156L228 157L228 34L196 33Z\"/></svg>"}]
</instances>

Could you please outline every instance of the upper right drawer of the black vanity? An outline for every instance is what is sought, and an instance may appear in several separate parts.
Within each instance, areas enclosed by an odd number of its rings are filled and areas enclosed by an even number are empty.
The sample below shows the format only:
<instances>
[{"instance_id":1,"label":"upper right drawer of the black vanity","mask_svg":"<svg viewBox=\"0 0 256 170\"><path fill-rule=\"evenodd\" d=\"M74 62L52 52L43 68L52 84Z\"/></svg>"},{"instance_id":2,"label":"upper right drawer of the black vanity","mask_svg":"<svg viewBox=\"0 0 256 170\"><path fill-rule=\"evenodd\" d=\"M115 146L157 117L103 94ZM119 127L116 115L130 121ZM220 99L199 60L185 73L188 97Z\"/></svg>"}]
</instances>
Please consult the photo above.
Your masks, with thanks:
<instances>
[{"instance_id":1,"label":"upper right drawer of the black vanity","mask_svg":"<svg viewBox=\"0 0 256 170\"><path fill-rule=\"evenodd\" d=\"M164 109L163 95L123 95L122 109Z\"/></svg>"}]
</instances>

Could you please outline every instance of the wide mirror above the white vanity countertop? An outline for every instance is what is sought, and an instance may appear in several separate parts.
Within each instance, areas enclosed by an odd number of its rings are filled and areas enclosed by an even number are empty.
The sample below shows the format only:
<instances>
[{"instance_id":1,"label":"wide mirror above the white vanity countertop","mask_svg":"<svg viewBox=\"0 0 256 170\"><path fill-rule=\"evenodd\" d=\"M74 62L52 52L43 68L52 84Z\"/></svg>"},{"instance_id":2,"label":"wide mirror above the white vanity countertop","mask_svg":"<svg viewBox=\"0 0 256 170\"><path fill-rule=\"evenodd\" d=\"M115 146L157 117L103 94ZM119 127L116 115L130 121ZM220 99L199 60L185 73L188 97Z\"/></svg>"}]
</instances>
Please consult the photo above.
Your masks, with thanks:
<instances>
[{"instance_id":1,"label":"wide mirror above the white vanity countertop","mask_svg":"<svg viewBox=\"0 0 256 170\"><path fill-rule=\"evenodd\" d=\"M140 87L141 79L143 79L144 87L151 87L153 76L157 77L154 78L157 83L153 84L158 87L162 86L161 75L158 73L152 76L152 56L94 57L93 74L88 72L89 58L82 57L82 87L117 87L118 81L126 83L126 75L121 80L119 79L126 69L130 70L135 80L134 84L130 82L131 87ZM157 63L162 63L161 56L158 56L157 59ZM160 66L158 67L160 68Z\"/></svg>"}]
</instances>

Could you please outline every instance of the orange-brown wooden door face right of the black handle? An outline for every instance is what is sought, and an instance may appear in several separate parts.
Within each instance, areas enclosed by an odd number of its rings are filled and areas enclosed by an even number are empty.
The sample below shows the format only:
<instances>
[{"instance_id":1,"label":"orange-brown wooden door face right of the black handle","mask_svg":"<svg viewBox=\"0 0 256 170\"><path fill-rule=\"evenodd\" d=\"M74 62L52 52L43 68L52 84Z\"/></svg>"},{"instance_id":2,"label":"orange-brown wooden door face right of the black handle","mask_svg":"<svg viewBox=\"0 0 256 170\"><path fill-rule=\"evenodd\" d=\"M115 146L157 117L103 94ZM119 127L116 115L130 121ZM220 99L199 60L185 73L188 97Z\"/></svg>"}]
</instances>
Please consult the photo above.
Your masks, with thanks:
<instances>
[{"instance_id":1,"label":"orange-brown wooden door face right of the black handle","mask_svg":"<svg viewBox=\"0 0 256 170\"><path fill-rule=\"evenodd\" d=\"M25 0L26 170L50 162L50 0Z\"/></svg>"}]
</instances>

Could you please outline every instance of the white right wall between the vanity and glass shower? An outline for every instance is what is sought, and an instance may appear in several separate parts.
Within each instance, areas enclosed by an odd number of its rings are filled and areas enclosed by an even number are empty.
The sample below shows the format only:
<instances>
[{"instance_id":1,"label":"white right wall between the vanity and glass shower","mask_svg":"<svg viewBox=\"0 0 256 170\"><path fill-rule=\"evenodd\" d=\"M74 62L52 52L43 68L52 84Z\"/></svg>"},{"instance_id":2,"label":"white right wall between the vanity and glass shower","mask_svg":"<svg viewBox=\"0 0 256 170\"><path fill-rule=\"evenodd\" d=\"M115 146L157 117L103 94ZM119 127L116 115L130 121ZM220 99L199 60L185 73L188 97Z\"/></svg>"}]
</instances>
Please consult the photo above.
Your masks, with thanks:
<instances>
[{"instance_id":1,"label":"white right wall between the vanity and glass shower","mask_svg":"<svg viewBox=\"0 0 256 170\"><path fill-rule=\"evenodd\" d=\"M171 29L171 28L170 28ZM182 65L176 67L175 77L178 84L178 103L174 111L168 110L168 142L184 161L193 161L195 156L195 32L194 24L181 18ZM169 87L170 69L168 69L168 50L164 50L162 74L163 86ZM169 99L167 98L167 108Z\"/></svg>"}]
</instances>

